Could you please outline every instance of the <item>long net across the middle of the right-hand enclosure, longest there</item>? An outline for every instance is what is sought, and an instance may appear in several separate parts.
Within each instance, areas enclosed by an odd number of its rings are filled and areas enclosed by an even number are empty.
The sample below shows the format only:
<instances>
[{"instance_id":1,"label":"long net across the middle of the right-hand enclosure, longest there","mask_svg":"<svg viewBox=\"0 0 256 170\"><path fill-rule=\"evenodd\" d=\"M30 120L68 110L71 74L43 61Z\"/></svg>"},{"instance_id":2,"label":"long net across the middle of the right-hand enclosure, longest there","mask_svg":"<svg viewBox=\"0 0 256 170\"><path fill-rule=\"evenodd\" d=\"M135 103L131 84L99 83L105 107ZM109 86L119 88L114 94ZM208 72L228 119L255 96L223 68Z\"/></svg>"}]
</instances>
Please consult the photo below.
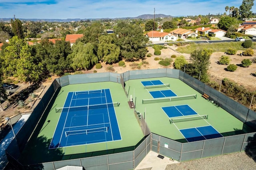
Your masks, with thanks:
<instances>
[{"instance_id":1,"label":"long net across the middle of the right-hand enclosure, longest there","mask_svg":"<svg viewBox=\"0 0 256 170\"><path fill-rule=\"evenodd\" d=\"M160 103L160 102L167 102L167 101L180 101L180 100L189 100L189 99L196 99L196 95L162 97L162 98L156 98L156 99L142 99L142 104Z\"/></svg>"}]
</instances>

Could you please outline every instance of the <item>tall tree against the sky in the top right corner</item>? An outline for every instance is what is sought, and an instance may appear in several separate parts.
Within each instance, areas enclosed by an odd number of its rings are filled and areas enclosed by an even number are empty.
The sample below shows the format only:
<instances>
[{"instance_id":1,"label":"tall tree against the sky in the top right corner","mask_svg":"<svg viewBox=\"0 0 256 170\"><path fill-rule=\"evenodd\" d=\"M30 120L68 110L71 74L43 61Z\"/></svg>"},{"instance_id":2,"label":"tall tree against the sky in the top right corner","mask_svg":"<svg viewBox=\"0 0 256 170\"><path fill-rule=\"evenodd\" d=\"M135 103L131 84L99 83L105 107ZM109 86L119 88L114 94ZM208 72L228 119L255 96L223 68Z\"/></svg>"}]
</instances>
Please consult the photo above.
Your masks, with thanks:
<instances>
[{"instance_id":1,"label":"tall tree against the sky in the top right corner","mask_svg":"<svg viewBox=\"0 0 256 170\"><path fill-rule=\"evenodd\" d=\"M239 7L240 15L243 20L252 17L252 6L254 5L254 0L243 0L242 5Z\"/></svg>"}]
</instances>

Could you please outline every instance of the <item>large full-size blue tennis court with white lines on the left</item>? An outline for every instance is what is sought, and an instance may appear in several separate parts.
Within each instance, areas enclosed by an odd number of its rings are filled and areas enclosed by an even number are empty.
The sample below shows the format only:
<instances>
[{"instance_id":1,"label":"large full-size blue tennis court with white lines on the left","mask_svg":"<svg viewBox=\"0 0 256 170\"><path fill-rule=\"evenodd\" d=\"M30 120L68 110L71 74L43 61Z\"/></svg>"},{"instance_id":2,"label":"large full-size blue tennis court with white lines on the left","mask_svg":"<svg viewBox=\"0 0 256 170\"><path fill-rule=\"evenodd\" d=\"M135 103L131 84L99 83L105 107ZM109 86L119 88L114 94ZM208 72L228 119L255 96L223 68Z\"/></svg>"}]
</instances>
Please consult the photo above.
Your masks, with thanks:
<instances>
[{"instance_id":1,"label":"large full-size blue tennis court with white lines on the left","mask_svg":"<svg viewBox=\"0 0 256 170\"><path fill-rule=\"evenodd\" d=\"M121 140L110 89L69 92L59 109L50 148Z\"/></svg>"}]
</instances>

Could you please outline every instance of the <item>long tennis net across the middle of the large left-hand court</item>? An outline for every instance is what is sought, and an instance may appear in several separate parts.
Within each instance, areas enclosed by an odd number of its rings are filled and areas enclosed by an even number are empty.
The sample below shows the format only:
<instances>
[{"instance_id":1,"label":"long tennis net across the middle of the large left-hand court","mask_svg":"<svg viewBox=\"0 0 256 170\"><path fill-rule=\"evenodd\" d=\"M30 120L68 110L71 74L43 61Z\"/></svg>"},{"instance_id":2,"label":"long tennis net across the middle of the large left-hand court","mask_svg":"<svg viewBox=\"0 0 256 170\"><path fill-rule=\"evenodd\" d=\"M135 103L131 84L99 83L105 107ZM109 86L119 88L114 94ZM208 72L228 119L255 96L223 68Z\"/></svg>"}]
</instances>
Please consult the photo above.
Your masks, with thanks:
<instances>
[{"instance_id":1,"label":"long tennis net across the middle of the large left-hand court","mask_svg":"<svg viewBox=\"0 0 256 170\"><path fill-rule=\"evenodd\" d=\"M105 103L105 104L99 104L99 105L88 105L88 106L73 106L73 107L57 107L55 108L56 113L64 112L70 112L70 111L83 111L83 110L90 110L90 109L102 109L107 107L119 107L119 102L114 103Z\"/></svg>"}]
</instances>

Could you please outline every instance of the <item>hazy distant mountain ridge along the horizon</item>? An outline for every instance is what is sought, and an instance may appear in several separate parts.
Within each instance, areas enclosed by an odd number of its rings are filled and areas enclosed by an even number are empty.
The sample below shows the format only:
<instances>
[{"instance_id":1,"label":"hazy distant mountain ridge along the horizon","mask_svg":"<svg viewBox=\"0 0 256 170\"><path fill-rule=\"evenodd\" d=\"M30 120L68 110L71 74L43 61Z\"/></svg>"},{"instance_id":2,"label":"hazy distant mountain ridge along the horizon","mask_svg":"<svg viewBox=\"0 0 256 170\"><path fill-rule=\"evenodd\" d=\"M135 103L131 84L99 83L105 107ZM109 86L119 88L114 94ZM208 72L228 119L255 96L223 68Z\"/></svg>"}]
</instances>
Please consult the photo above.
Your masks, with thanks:
<instances>
[{"instance_id":1,"label":"hazy distant mountain ridge along the horizon","mask_svg":"<svg viewBox=\"0 0 256 170\"><path fill-rule=\"evenodd\" d=\"M170 15L164 15L164 14L155 14L155 18L172 18L173 16ZM144 14L137 17L125 17L125 18L88 18L88 19L80 19L80 18L74 18L74 19L24 19L24 18L18 18L22 21L35 21L35 22L73 22L73 21L85 21L85 20L126 20L126 19L153 19L154 14ZM10 22L10 20L13 18L0 18L0 22Z\"/></svg>"}]
</instances>

